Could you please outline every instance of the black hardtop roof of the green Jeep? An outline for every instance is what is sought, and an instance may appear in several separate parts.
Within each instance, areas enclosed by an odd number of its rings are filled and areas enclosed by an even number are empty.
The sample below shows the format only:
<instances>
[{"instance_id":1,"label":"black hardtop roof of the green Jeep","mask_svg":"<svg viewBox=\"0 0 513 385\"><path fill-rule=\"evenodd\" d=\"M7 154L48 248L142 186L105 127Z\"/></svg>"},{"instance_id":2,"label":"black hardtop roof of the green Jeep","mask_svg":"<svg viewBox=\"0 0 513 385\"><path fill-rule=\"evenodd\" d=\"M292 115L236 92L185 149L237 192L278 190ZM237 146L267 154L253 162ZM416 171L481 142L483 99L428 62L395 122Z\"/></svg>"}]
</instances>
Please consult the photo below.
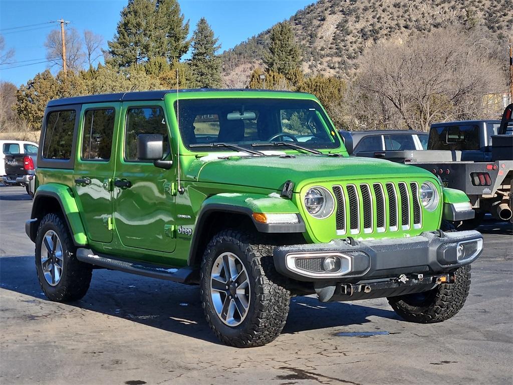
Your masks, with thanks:
<instances>
[{"instance_id":1,"label":"black hardtop roof of the green Jeep","mask_svg":"<svg viewBox=\"0 0 513 385\"><path fill-rule=\"evenodd\" d=\"M287 93L304 93L294 91L276 91L267 89L222 89L222 88L190 88L179 89L182 92L233 92L233 91L248 91L248 92L287 92ZM135 92L117 92L105 93L99 95L87 95L82 97L55 99L48 102L48 107L65 106L71 104L87 104L87 103L108 103L108 102L143 102L151 100L163 100L167 93L176 93L176 90L156 90L156 91L135 91Z\"/></svg>"}]
</instances>

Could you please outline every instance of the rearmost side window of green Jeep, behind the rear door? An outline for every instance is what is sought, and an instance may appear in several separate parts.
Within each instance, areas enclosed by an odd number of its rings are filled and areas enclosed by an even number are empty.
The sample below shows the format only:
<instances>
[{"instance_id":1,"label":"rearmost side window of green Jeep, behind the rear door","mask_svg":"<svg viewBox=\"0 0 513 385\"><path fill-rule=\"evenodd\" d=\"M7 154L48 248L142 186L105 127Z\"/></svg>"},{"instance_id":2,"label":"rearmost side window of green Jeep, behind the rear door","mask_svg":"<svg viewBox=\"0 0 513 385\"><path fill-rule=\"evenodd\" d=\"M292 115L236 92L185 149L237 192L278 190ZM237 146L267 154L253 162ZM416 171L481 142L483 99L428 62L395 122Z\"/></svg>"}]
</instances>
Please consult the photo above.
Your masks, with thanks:
<instances>
[{"instance_id":1,"label":"rearmost side window of green Jeep, behind the rear door","mask_svg":"<svg viewBox=\"0 0 513 385\"><path fill-rule=\"evenodd\" d=\"M75 110L52 111L48 114L43 143L43 158L71 159L75 119Z\"/></svg>"}]
</instances>

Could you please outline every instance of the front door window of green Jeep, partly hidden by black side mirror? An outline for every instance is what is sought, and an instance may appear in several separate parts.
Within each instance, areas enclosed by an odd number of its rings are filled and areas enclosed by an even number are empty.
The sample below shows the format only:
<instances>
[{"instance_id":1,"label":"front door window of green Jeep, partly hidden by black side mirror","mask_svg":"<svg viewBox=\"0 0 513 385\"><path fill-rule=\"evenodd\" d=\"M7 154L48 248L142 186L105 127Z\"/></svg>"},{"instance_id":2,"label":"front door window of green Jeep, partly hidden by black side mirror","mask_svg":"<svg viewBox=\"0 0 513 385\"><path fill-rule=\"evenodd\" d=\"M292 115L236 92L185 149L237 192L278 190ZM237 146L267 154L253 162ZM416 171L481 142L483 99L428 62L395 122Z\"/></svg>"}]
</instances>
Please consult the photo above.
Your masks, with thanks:
<instances>
[{"instance_id":1,"label":"front door window of green Jeep, partly hidden by black side mirror","mask_svg":"<svg viewBox=\"0 0 513 385\"><path fill-rule=\"evenodd\" d=\"M144 133L160 133L164 137L164 153L169 152L166 118L161 107L129 108L125 130L125 160L139 161L137 136Z\"/></svg>"}]
</instances>

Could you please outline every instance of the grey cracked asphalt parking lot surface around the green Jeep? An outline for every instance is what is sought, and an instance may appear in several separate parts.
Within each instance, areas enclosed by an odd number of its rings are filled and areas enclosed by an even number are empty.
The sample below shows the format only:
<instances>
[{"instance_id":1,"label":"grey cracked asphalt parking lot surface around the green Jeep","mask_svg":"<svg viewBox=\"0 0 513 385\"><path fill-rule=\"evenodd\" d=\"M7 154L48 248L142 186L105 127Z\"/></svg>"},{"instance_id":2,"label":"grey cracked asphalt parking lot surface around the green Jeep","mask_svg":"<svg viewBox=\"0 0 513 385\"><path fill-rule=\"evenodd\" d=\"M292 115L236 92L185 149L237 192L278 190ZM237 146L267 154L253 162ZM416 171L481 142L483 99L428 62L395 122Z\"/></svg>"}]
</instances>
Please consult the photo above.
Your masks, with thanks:
<instances>
[{"instance_id":1,"label":"grey cracked asphalt parking lot surface around the green Jeep","mask_svg":"<svg viewBox=\"0 0 513 385\"><path fill-rule=\"evenodd\" d=\"M208 329L195 286L95 270L81 301L48 301L24 230L31 202L0 187L0 383L513 383L510 224L479 228L485 252L448 321L405 322L385 299L295 297L276 341L234 349Z\"/></svg>"}]
</instances>

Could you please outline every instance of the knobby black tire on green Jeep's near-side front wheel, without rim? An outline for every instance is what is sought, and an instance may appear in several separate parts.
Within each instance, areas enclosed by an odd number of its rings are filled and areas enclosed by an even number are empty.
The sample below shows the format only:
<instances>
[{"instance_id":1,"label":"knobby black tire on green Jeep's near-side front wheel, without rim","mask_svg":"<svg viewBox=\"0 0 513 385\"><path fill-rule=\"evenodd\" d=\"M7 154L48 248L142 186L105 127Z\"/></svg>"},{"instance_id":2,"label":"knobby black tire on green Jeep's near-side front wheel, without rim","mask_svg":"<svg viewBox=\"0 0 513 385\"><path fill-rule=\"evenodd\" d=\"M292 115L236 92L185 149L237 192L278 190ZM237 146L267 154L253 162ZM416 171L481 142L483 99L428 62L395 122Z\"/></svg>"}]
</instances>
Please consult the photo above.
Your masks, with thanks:
<instances>
[{"instance_id":1,"label":"knobby black tire on green Jeep's near-side front wheel, without rim","mask_svg":"<svg viewBox=\"0 0 513 385\"><path fill-rule=\"evenodd\" d=\"M237 263L242 262L249 286L245 318L233 326L218 315L212 296L211 273L215 268L214 263L226 253L236 256ZM280 335L287 320L290 292L278 283L272 246L245 232L223 230L211 239L205 249L200 277L201 300L207 322L223 343L237 348L258 347Z\"/></svg>"}]
</instances>

